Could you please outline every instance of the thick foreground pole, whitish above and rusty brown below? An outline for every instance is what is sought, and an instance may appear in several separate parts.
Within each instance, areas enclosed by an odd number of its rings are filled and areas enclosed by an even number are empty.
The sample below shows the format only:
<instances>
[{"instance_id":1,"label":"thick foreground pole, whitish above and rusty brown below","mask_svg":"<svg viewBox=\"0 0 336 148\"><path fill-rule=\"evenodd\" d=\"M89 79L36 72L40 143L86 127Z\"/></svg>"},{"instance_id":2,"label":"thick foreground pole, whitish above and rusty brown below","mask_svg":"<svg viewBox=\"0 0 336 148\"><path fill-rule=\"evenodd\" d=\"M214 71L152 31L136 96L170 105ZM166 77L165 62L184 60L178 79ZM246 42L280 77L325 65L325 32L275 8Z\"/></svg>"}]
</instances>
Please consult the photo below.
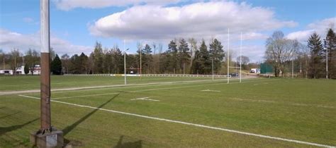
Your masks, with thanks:
<instances>
[{"instance_id":1,"label":"thick foreground pole, whitish above and rusty brown below","mask_svg":"<svg viewBox=\"0 0 336 148\"><path fill-rule=\"evenodd\" d=\"M50 118L50 25L49 0L41 0L41 127L40 130L51 130Z\"/></svg>"}]
</instances>

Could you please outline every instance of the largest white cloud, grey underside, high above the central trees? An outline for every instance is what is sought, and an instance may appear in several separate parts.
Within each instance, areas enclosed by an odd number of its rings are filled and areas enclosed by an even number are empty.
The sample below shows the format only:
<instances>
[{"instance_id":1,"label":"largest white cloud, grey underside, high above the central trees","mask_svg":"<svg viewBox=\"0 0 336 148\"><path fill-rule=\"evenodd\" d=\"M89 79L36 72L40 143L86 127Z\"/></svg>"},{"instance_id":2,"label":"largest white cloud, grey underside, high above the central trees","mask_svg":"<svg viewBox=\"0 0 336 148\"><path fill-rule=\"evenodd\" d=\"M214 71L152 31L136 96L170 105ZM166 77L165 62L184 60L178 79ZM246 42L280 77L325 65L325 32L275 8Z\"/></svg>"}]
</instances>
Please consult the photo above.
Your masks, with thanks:
<instances>
[{"instance_id":1,"label":"largest white cloud, grey underside, high above the central trees","mask_svg":"<svg viewBox=\"0 0 336 148\"><path fill-rule=\"evenodd\" d=\"M255 33L281 27L293 27L293 21L274 18L268 8L252 7L232 1L211 1L181 7L134 6L120 13L100 18L89 25L92 35L123 39L208 38L230 32Z\"/></svg>"}]
</instances>

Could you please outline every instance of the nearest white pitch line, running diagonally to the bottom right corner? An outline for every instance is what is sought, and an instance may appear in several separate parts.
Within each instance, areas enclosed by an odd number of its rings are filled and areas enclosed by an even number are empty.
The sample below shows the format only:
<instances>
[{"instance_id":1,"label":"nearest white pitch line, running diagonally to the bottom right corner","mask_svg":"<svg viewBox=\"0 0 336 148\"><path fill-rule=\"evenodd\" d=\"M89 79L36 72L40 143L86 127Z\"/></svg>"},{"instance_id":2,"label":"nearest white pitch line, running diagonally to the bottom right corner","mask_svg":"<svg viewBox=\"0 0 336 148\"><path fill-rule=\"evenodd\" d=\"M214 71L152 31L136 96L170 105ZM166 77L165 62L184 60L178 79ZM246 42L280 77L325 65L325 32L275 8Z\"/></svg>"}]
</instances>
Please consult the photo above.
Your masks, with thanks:
<instances>
[{"instance_id":1,"label":"nearest white pitch line, running diagonally to the bottom right corner","mask_svg":"<svg viewBox=\"0 0 336 148\"><path fill-rule=\"evenodd\" d=\"M30 99L40 99L38 97L30 97L30 96L26 96L26 95L18 95L20 97L26 97L26 98L30 98ZM51 101L55 101L55 100L51 100ZM169 120L169 119L165 119L165 118L157 118L157 117L151 117L151 116L144 116L144 115L140 115L140 114L135 114L135 113L126 113L123 111L114 111L111 109L101 109L101 108L97 108L97 107L93 107L93 106L85 106L85 105L79 105L79 104L72 104L72 103L67 103L64 101L55 101L57 103L60 104L68 104L68 105L72 105L72 106L79 106L79 107L84 107L84 108L89 108L89 109L99 109L101 111L108 111L108 112L112 112L112 113L121 113L124 115L129 115L129 116L136 116L136 117L141 117L141 118L149 118L149 119L153 119L153 120L157 120L157 121L166 121L169 123L180 123L180 124L184 124L184 125L193 125L196 127L200 127L200 128L208 128L208 129L213 129L213 130L222 130L225 132L233 132L233 133L237 133L237 134L242 134L242 135L250 135L250 136L254 136L254 137L263 137L263 138L267 138L267 139L271 139L271 140L280 140L280 141L285 141L285 142L293 142L293 143L298 143L298 144L307 144L307 145L313 145L313 146L317 146L317 147L334 147L334 146L330 146L330 145L325 145L325 144L317 144L317 143L313 143L313 142L303 142L303 141L299 141L299 140L291 140L291 139L286 139L286 138L282 138L282 137L273 137L273 136L268 136L268 135L259 135L259 134L254 134L251 132L242 132L239 130L230 130L230 129L226 129L226 128L217 128L217 127L213 127L213 126L208 126L208 125L201 125L201 124L195 124L195 123L187 123L184 121L174 121L174 120Z\"/></svg>"}]
</instances>

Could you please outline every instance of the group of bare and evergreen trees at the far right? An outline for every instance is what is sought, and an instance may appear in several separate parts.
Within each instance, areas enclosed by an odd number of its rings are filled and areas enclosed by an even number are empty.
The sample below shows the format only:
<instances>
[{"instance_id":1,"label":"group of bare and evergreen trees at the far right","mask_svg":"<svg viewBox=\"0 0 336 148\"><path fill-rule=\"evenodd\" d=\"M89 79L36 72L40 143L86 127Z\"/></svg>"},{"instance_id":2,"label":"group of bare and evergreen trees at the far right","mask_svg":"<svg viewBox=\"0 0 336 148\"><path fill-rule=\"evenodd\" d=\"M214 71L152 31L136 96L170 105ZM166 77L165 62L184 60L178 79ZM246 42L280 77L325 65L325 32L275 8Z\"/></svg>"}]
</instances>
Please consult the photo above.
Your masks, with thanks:
<instances>
[{"instance_id":1,"label":"group of bare and evergreen trees at the far right","mask_svg":"<svg viewBox=\"0 0 336 148\"><path fill-rule=\"evenodd\" d=\"M276 77L295 72L301 78L336 78L336 37L331 28L321 39L313 32L306 44L286 39L276 31L266 41L266 62L274 68ZM327 67L328 64L328 67Z\"/></svg>"}]
</instances>

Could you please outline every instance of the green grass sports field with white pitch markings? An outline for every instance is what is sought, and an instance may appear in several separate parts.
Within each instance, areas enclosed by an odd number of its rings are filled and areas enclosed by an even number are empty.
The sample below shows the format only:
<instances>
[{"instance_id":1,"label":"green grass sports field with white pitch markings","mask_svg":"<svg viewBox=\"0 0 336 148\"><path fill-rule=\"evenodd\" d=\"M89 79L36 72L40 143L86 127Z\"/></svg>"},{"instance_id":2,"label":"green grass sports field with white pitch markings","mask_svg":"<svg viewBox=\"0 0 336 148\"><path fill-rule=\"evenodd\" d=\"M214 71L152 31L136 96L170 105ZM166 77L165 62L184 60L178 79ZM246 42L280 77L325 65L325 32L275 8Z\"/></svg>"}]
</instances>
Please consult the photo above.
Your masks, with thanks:
<instances>
[{"instance_id":1,"label":"green grass sports field with white pitch markings","mask_svg":"<svg viewBox=\"0 0 336 148\"><path fill-rule=\"evenodd\" d=\"M75 147L336 146L335 80L129 78L130 84L186 80L209 81L52 92L52 125ZM33 76L0 82L0 92L39 88ZM52 88L121 84L118 77L52 77ZM39 95L0 96L0 147L31 147Z\"/></svg>"}]
</instances>

